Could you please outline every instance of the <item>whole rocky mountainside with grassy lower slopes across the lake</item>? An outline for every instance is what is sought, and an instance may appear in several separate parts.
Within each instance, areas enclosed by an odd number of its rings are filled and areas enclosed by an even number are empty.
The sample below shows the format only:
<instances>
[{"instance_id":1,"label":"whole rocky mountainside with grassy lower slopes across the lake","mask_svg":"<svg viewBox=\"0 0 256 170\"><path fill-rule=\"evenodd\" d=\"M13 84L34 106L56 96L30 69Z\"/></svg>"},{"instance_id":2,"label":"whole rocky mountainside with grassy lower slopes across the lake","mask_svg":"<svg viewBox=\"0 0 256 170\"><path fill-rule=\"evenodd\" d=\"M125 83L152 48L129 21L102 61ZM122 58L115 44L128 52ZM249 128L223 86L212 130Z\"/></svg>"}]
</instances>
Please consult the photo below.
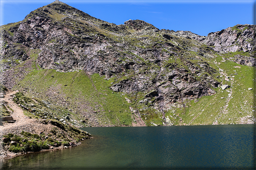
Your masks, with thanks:
<instances>
[{"instance_id":1,"label":"whole rocky mountainside with grassy lower slopes across the lake","mask_svg":"<svg viewBox=\"0 0 256 170\"><path fill-rule=\"evenodd\" d=\"M255 30L116 25L55 1L1 26L1 83L78 127L255 123Z\"/></svg>"}]
</instances>

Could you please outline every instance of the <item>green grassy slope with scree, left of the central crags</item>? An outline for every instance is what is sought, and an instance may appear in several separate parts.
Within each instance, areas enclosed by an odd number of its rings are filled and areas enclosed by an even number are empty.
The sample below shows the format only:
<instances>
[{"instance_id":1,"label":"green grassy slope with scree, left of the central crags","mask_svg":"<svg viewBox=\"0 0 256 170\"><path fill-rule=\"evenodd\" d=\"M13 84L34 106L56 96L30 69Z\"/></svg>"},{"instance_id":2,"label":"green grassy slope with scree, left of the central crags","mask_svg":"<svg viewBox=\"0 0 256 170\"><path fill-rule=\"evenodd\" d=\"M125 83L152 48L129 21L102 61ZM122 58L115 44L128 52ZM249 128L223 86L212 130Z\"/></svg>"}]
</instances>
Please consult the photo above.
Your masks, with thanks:
<instances>
[{"instance_id":1,"label":"green grassy slope with scree, left of the central crags","mask_svg":"<svg viewBox=\"0 0 256 170\"><path fill-rule=\"evenodd\" d=\"M76 120L83 120L81 115L88 112L95 115L98 123L102 125L131 125L129 104L123 95L109 89L111 81L104 80L98 74L88 76L82 70L63 73L41 69L35 62L38 52L39 50L31 51L31 72L22 81L17 82L14 89L25 88L25 94L31 98L37 97L55 107L62 105L68 109L72 108L72 111L66 110ZM81 105L84 107L81 108ZM59 118L64 116L59 114ZM89 123L82 126L89 126Z\"/></svg>"}]
</instances>

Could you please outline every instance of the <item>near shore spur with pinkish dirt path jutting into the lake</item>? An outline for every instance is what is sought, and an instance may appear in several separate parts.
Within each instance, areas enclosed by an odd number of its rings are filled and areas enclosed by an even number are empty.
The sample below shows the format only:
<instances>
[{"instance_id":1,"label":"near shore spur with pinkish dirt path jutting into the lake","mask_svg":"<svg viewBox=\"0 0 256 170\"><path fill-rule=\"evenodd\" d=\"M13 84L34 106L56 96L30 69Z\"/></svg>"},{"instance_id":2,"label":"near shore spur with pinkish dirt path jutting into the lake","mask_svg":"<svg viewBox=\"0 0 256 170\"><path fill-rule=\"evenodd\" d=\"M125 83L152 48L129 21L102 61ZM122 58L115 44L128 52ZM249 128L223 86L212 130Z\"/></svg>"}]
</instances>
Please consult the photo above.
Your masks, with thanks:
<instances>
[{"instance_id":1,"label":"near shore spur with pinkish dirt path jutting into the lake","mask_svg":"<svg viewBox=\"0 0 256 170\"><path fill-rule=\"evenodd\" d=\"M90 133L58 120L26 116L20 105L13 101L17 94L18 91L7 89L4 97L0 98L0 102L8 106L9 117L13 118L11 123L1 122L0 158L15 157L40 149L75 146L91 137Z\"/></svg>"}]
</instances>

